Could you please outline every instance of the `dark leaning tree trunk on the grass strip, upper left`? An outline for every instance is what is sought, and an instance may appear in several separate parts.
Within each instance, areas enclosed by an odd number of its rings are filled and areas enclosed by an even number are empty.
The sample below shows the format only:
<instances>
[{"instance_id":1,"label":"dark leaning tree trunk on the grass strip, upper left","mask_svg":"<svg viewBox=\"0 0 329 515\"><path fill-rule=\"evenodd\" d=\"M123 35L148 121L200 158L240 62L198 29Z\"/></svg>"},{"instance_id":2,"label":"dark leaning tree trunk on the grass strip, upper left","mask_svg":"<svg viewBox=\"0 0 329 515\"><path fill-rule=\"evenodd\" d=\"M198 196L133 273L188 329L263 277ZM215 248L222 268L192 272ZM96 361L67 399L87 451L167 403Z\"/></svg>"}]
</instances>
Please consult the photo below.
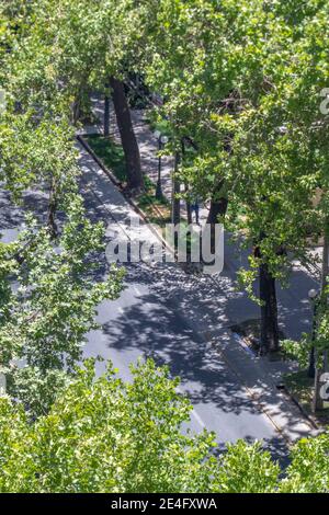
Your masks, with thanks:
<instances>
[{"instance_id":1,"label":"dark leaning tree trunk on the grass strip, upper left","mask_svg":"<svg viewBox=\"0 0 329 515\"><path fill-rule=\"evenodd\" d=\"M144 179L140 156L124 84L114 77L111 78L110 84L113 90L114 110L126 160L127 186L129 190L141 190L144 188Z\"/></svg>"}]
</instances>

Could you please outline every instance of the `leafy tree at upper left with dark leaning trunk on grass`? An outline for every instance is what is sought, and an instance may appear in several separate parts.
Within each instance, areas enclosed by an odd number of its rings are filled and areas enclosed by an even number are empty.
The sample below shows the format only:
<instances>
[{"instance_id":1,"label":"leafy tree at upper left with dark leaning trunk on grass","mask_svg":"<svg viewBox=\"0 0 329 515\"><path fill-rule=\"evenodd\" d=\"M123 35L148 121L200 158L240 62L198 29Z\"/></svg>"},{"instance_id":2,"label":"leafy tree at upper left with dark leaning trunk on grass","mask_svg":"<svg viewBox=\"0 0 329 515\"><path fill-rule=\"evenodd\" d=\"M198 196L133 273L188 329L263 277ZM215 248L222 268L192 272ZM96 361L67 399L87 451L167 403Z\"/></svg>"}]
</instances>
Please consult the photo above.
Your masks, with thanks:
<instances>
[{"instance_id":1,"label":"leafy tree at upper left with dark leaning trunk on grass","mask_svg":"<svg viewBox=\"0 0 329 515\"><path fill-rule=\"evenodd\" d=\"M111 81L126 158L127 185L132 190L143 188L139 149L124 90L131 60L139 48L139 30L143 33L139 5L131 0L41 0L35 9L35 26L13 60L18 62L25 57L30 68L37 66L33 76L48 82L48 102L55 88L61 101L70 106L73 123L90 114L90 92L98 89L107 96ZM38 59L33 57L35 53ZM31 89L34 81L31 73L29 79L27 89Z\"/></svg>"}]
</instances>

